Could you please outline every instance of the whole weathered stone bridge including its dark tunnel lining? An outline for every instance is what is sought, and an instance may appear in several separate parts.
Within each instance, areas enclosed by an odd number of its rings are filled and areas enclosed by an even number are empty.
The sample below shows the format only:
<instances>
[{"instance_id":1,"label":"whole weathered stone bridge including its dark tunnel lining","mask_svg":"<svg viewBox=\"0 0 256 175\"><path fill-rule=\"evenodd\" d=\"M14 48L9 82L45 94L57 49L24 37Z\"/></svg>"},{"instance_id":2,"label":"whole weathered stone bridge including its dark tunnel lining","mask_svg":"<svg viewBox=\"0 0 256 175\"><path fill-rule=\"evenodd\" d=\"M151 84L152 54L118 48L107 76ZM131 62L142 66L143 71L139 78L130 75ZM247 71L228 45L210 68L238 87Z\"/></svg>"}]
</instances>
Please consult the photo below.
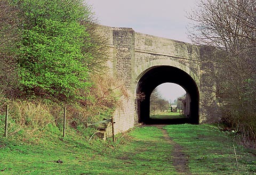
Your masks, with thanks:
<instances>
[{"instance_id":1,"label":"whole weathered stone bridge including its dark tunnel lining","mask_svg":"<svg viewBox=\"0 0 256 175\"><path fill-rule=\"evenodd\" d=\"M115 132L149 121L152 91L165 82L183 87L189 97L188 123L217 120L213 64L207 49L135 32L132 28L99 26L108 39L111 76L123 81L127 96L115 111ZM143 94L145 98L138 98Z\"/></svg>"}]
</instances>

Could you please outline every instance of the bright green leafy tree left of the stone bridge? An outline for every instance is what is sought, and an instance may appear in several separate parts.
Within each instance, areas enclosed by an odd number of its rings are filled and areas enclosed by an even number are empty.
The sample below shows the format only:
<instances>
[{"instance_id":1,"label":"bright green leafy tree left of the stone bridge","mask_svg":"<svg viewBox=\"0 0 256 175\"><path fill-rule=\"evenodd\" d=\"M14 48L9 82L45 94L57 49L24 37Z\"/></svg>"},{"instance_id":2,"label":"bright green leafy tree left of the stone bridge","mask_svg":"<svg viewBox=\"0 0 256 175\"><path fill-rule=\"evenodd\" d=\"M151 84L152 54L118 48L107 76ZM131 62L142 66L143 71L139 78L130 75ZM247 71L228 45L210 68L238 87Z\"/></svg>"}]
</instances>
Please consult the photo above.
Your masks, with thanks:
<instances>
[{"instance_id":1,"label":"bright green leafy tree left of the stone bridge","mask_svg":"<svg viewBox=\"0 0 256 175\"><path fill-rule=\"evenodd\" d=\"M22 90L79 98L76 90L90 86L85 60L93 56L83 51L90 34L81 24L90 21L90 9L80 0L18 0L15 6L24 19L18 49Z\"/></svg>"}]
</instances>

